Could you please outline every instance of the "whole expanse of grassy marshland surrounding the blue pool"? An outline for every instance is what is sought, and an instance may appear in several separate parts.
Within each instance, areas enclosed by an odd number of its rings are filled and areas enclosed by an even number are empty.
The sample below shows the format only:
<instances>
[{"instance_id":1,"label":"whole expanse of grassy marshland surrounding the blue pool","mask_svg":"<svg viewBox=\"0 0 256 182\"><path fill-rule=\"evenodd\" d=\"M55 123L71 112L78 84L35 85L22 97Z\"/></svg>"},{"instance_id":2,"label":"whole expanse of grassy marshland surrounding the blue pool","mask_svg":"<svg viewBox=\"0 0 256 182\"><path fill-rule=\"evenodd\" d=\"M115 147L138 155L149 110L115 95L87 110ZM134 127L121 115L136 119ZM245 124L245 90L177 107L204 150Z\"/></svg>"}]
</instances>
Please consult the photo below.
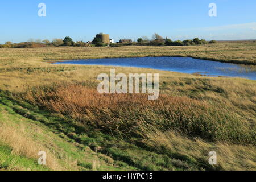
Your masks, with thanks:
<instances>
[{"instance_id":1,"label":"whole expanse of grassy marshland surrounding the blue pool","mask_svg":"<svg viewBox=\"0 0 256 182\"><path fill-rule=\"evenodd\" d=\"M147 68L52 64L192 57L255 71L256 43L0 48L0 169L255 170L256 81ZM99 94L97 76L159 73L159 99ZM46 151L46 166L37 164ZM208 163L209 151L218 163Z\"/></svg>"}]
</instances>

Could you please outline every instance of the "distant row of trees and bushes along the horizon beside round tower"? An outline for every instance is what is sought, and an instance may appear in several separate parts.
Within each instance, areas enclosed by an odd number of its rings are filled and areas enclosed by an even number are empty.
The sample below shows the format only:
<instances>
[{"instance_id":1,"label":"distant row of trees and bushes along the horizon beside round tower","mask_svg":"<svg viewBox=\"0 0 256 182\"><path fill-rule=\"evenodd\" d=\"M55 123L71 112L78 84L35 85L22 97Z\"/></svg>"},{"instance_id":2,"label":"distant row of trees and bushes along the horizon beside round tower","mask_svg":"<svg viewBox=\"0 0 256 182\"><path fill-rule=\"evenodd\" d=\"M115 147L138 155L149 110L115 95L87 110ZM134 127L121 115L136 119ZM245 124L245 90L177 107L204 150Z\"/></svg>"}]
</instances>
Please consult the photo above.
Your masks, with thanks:
<instances>
[{"instance_id":1,"label":"distant row of trees and bushes along the horizon beside round tower","mask_svg":"<svg viewBox=\"0 0 256 182\"><path fill-rule=\"evenodd\" d=\"M36 48L36 47L59 47L59 46L74 46L74 47L102 47L102 46L111 46L111 47L119 47L119 46L132 46L132 45L139 45L139 46L196 46L202 44L213 44L217 43L216 40L206 41L204 39L195 38L193 40L176 40L172 41L172 39L164 39L159 34L154 34L152 39L148 39L146 36L142 38L138 38L137 42L133 43L110 43L103 44L101 39L94 38L92 42L85 43L82 41L74 42L69 36L66 36L64 39L53 39L50 42L48 39L40 40L40 39L30 39L27 42L22 43L12 43L6 42L5 44L1 45L0 48Z\"/></svg>"}]
</instances>

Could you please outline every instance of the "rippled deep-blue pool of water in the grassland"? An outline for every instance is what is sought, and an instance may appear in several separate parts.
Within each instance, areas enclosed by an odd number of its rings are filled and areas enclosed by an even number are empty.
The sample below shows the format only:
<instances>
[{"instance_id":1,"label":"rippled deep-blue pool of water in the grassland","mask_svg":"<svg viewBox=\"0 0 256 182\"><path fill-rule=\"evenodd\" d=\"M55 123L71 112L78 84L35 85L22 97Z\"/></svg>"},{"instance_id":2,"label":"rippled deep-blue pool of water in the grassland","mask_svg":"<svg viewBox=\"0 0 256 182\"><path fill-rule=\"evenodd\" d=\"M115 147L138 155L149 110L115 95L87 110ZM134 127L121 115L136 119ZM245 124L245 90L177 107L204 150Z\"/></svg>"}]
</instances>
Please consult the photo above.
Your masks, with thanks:
<instances>
[{"instance_id":1,"label":"rippled deep-blue pool of water in the grassland","mask_svg":"<svg viewBox=\"0 0 256 182\"><path fill-rule=\"evenodd\" d=\"M199 73L206 76L243 77L256 80L256 72L238 64L193 59L191 57L137 57L65 60L56 64L107 65L152 68L181 73Z\"/></svg>"}]
</instances>

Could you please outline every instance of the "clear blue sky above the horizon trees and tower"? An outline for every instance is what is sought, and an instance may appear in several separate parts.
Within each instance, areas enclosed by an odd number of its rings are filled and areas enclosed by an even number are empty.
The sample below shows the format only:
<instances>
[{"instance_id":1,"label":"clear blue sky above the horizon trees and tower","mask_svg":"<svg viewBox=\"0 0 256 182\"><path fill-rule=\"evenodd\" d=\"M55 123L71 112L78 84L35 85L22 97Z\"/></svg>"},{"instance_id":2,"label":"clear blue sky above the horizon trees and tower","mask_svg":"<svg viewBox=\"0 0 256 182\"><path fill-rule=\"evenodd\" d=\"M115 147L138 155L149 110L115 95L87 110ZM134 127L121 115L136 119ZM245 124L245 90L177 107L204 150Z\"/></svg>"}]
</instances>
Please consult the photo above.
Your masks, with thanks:
<instances>
[{"instance_id":1,"label":"clear blue sky above the horizon trees and tower","mask_svg":"<svg viewBox=\"0 0 256 182\"><path fill-rule=\"evenodd\" d=\"M38 4L46 4L46 17ZM208 15L216 3L217 17ZM0 43L64 38L256 39L255 0L9 0L0 2Z\"/></svg>"}]
</instances>

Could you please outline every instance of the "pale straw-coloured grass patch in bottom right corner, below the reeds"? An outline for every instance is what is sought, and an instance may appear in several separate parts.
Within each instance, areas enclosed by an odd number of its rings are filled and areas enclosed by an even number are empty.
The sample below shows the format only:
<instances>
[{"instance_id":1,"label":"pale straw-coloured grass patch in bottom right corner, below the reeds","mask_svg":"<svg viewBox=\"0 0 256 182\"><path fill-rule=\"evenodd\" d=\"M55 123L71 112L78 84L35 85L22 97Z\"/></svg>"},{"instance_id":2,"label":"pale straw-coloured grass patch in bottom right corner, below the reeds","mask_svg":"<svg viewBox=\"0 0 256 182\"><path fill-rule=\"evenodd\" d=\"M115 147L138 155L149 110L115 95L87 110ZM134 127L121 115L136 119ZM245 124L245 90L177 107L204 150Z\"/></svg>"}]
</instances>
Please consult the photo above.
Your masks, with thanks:
<instances>
[{"instance_id":1,"label":"pale straw-coloured grass patch in bottom right corner, below the reeds","mask_svg":"<svg viewBox=\"0 0 256 182\"><path fill-rule=\"evenodd\" d=\"M222 170L255 170L255 146L215 144L200 138L189 139L176 131L147 133L143 143L162 154L180 154L190 156L197 161L207 162L209 151L217 152L218 168Z\"/></svg>"}]
</instances>

